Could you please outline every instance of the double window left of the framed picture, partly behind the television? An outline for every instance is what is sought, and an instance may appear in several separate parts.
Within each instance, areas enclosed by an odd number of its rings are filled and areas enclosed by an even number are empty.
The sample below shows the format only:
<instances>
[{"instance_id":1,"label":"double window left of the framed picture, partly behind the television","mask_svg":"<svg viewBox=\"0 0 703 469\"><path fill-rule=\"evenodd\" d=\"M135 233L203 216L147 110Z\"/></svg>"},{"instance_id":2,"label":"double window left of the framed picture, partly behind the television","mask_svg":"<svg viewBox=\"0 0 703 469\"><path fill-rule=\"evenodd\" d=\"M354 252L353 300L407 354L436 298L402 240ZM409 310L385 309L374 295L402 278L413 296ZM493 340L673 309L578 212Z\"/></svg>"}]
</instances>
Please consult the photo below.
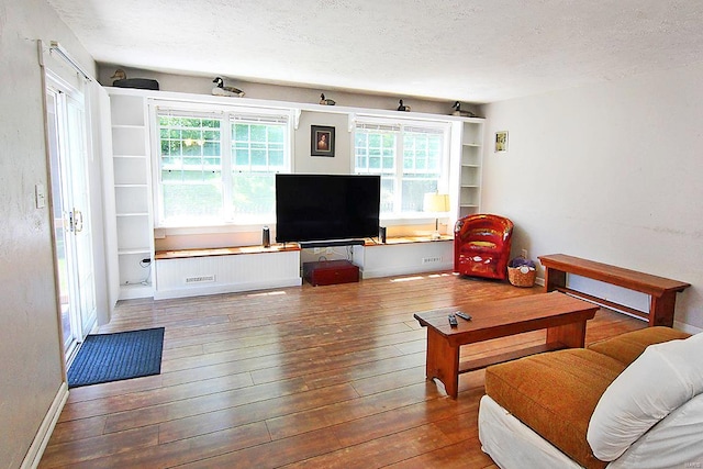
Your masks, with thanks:
<instances>
[{"instance_id":1,"label":"double window left of the framed picture, partly behind the television","mask_svg":"<svg viewBox=\"0 0 703 469\"><path fill-rule=\"evenodd\" d=\"M290 171L288 115L157 108L157 226L266 223Z\"/></svg>"}]
</instances>

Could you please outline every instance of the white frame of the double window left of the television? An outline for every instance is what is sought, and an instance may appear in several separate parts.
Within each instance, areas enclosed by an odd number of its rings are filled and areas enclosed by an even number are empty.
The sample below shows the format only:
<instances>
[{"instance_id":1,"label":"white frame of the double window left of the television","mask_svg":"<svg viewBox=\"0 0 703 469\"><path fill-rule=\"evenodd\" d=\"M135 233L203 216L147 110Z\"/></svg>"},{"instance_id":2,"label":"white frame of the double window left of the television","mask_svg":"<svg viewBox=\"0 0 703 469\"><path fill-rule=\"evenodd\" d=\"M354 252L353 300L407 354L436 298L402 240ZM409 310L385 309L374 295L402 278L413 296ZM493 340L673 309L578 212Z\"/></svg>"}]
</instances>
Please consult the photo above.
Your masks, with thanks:
<instances>
[{"instance_id":1,"label":"white frame of the double window left of the television","mask_svg":"<svg viewBox=\"0 0 703 469\"><path fill-rule=\"evenodd\" d=\"M254 108L247 105L210 104L166 100L149 100L149 147L152 170L152 194L155 228L207 228L213 226L255 226L261 224L272 224L276 221L275 213L263 215L236 215L232 210L233 199L233 169L234 161L234 138L232 133L236 123L255 123L257 121L280 120L283 124L283 163L279 171L291 172L293 158L293 135L294 135L294 110L284 108ZM220 124L220 183L222 185L222 214L209 219L193 217L189 221L168 221L164 214L164 190L161 185L161 137L159 116L170 112L176 116L193 116L199 119L216 119Z\"/></svg>"}]
</instances>

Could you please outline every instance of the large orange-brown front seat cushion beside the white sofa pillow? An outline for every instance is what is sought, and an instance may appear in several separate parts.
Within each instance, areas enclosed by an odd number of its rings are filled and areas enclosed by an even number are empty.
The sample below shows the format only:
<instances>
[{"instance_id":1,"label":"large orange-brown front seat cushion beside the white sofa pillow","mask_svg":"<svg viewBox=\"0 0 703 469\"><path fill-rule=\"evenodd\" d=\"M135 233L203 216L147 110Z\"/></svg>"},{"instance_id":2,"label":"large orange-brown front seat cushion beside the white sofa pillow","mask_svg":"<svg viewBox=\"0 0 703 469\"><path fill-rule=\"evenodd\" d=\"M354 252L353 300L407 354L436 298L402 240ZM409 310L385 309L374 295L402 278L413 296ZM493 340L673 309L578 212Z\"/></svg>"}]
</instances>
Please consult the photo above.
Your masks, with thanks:
<instances>
[{"instance_id":1,"label":"large orange-brown front seat cushion beside the white sofa pillow","mask_svg":"<svg viewBox=\"0 0 703 469\"><path fill-rule=\"evenodd\" d=\"M585 468L604 468L585 439L601 394L625 369L614 358L573 348L486 370L486 393Z\"/></svg>"}]
</instances>

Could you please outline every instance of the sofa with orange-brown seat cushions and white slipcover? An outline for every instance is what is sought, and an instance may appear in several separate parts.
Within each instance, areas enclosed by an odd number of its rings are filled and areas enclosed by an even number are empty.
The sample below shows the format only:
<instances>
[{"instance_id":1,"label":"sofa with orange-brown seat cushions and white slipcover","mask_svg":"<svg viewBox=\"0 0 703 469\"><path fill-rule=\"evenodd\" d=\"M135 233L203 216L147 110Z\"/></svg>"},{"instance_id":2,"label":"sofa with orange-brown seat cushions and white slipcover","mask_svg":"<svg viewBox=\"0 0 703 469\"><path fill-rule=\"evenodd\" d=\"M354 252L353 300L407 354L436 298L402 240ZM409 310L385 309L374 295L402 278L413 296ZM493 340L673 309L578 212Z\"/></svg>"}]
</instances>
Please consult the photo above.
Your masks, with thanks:
<instances>
[{"instance_id":1,"label":"sofa with orange-brown seat cushions and white slipcover","mask_svg":"<svg viewBox=\"0 0 703 469\"><path fill-rule=\"evenodd\" d=\"M648 327L486 370L479 438L511 468L703 467L703 334Z\"/></svg>"}]
</instances>

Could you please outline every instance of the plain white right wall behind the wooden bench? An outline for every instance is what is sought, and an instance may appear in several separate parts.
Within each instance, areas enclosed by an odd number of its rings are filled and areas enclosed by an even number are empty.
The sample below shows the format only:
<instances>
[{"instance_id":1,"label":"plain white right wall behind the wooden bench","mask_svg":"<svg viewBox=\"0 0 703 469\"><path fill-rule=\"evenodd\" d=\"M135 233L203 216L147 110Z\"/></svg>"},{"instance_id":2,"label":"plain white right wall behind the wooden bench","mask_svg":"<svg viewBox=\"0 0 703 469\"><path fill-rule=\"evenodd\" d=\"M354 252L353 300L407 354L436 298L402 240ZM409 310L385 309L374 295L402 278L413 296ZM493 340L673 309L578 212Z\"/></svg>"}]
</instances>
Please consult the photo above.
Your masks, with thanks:
<instances>
[{"instance_id":1,"label":"plain white right wall behind the wooden bench","mask_svg":"<svg viewBox=\"0 0 703 469\"><path fill-rule=\"evenodd\" d=\"M515 222L514 253L689 282L676 322L703 327L701 82L703 64L486 105L509 152L486 147L482 209Z\"/></svg>"}]
</instances>

